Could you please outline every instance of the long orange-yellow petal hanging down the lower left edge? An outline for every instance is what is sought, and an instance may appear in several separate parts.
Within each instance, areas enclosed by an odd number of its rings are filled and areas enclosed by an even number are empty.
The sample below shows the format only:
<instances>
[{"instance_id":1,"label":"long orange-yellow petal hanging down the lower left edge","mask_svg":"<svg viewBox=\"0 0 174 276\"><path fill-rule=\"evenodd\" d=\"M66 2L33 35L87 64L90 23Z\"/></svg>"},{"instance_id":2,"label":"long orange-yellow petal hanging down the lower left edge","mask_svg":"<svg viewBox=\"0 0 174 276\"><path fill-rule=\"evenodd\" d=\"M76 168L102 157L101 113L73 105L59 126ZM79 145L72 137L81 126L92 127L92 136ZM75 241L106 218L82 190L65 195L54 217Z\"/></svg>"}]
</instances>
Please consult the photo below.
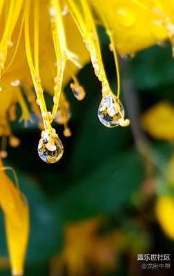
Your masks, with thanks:
<instances>
[{"instance_id":1,"label":"long orange-yellow petal hanging down the lower left edge","mask_svg":"<svg viewBox=\"0 0 174 276\"><path fill-rule=\"evenodd\" d=\"M4 172L8 169L11 168L3 167L0 159L0 206L5 218L12 275L20 276L23 275L23 262L28 242L28 206L26 199L19 192L19 188L14 187L14 184ZM14 177L16 179L15 174Z\"/></svg>"}]
</instances>

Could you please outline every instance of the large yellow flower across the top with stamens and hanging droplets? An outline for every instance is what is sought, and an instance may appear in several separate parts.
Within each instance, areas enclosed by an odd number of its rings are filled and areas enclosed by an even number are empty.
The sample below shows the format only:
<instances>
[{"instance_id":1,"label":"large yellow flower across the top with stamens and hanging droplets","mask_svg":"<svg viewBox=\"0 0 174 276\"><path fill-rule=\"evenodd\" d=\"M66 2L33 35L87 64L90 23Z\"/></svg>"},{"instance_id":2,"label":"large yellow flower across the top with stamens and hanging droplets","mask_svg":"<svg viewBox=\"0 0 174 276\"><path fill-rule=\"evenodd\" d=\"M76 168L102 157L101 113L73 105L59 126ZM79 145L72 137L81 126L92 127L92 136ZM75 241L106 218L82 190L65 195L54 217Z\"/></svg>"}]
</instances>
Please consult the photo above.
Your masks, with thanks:
<instances>
[{"instance_id":1,"label":"large yellow flower across the top with stamens and hanging droplets","mask_svg":"<svg viewBox=\"0 0 174 276\"><path fill-rule=\"evenodd\" d=\"M14 120L14 105L19 102L21 120L30 119L27 98L43 129L39 156L48 163L58 161L64 148L51 124L53 120L64 124L64 135L71 135L64 86L72 79L73 94L79 100L84 98L84 88L76 75L89 59L101 81L99 120L109 128L128 126L119 100L116 50L127 57L164 39L173 44L172 14L173 1L164 0L112 0L107 6L101 0L1 0L0 136L10 137L11 146L19 144L10 130L7 112ZM106 78L97 23L104 26L110 39L117 71L116 95ZM46 106L43 90L52 95L52 110ZM3 155L5 144L1 146Z\"/></svg>"}]
</instances>

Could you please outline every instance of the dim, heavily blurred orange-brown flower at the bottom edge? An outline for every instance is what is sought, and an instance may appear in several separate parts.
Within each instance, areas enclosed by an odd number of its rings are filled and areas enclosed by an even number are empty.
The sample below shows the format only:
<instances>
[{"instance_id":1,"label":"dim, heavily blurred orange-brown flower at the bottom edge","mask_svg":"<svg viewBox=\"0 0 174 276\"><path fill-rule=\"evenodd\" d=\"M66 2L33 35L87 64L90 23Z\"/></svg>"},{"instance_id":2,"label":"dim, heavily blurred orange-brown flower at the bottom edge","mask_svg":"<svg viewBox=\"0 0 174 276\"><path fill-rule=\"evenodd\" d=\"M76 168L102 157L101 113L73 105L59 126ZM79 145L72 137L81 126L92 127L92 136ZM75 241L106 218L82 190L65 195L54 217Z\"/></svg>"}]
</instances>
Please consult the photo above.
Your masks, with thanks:
<instances>
[{"instance_id":1,"label":"dim, heavily blurred orange-brown flower at the bottom edge","mask_svg":"<svg viewBox=\"0 0 174 276\"><path fill-rule=\"evenodd\" d=\"M117 252L125 246L126 237L121 230L108 235L99 234L101 218L68 224L64 230L64 247L50 265L50 275L61 275L66 268L68 276L97 275L117 266Z\"/></svg>"}]
</instances>

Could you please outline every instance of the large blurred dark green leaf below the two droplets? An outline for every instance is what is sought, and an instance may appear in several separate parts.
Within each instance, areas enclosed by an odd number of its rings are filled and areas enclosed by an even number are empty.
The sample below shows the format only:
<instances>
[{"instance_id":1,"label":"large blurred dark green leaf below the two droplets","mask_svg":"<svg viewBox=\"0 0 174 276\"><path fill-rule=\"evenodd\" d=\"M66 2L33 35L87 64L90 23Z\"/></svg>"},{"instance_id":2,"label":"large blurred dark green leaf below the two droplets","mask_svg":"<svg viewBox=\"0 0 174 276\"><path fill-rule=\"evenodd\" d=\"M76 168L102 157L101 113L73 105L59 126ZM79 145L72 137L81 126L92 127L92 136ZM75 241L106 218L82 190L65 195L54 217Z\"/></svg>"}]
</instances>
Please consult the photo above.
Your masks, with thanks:
<instances>
[{"instance_id":1,"label":"large blurred dark green leaf below the two droplets","mask_svg":"<svg viewBox=\"0 0 174 276\"><path fill-rule=\"evenodd\" d=\"M100 166L86 171L55 201L65 221L85 219L120 208L142 181L142 164L135 150L104 159Z\"/></svg>"}]
</instances>

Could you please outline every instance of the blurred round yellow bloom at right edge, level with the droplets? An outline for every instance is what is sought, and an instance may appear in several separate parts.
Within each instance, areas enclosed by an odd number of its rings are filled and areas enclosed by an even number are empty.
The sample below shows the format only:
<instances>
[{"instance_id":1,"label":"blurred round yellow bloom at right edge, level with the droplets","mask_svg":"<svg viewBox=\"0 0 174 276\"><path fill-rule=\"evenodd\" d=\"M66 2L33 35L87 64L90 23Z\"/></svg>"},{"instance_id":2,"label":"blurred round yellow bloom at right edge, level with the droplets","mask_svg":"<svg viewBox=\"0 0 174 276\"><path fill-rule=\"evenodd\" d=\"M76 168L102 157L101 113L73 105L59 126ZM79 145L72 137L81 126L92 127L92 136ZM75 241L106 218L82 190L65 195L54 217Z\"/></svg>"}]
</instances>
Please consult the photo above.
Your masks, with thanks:
<instances>
[{"instance_id":1,"label":"blurred round yellow bloom at right edge, level with the droplets","mask_svg":"<svg viewBox=\"0 0 174 276\"><path fill-rule=\"evenodd\" d=\"M152 137L174 141L174 107L171 103L160 102L148 109L142 116L142 128Z\"/></svg>"}]
</instances>

